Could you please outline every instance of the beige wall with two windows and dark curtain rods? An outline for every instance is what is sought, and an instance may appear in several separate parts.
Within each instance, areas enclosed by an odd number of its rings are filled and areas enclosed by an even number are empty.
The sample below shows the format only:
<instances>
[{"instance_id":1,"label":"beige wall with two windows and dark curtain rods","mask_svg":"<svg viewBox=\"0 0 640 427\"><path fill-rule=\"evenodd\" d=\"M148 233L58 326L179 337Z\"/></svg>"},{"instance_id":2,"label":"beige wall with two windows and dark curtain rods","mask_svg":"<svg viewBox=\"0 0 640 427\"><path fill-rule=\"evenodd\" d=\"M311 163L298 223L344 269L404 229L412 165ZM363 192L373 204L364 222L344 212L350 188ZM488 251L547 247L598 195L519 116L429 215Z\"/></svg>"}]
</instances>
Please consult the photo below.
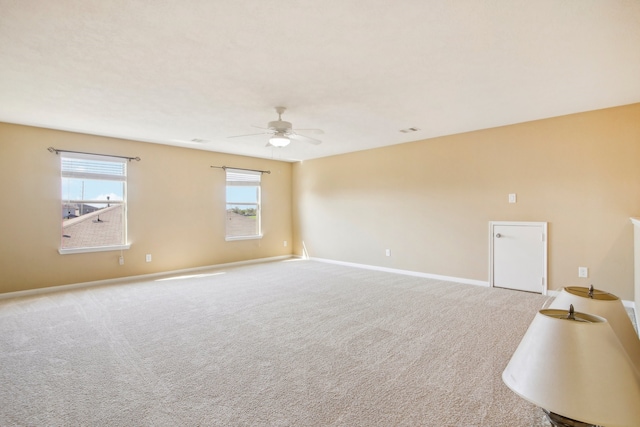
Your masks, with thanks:
<instances>
[{"instance_id":1,"label":"beige wall with two windows and dark curtain rods","mask_svg":"<svg viewBox=\"0 0 640 427\"><path fill-rule=\"evenodd\" d=\"M47 147L139 156L131 162L131 249L60 255L59 157ZM225 242L225 175L263 175L261 240ZM291 164L0 123L0 293L291 254ZM145 262L145 254L153 261Z\"/></svg>"}]
</instances>

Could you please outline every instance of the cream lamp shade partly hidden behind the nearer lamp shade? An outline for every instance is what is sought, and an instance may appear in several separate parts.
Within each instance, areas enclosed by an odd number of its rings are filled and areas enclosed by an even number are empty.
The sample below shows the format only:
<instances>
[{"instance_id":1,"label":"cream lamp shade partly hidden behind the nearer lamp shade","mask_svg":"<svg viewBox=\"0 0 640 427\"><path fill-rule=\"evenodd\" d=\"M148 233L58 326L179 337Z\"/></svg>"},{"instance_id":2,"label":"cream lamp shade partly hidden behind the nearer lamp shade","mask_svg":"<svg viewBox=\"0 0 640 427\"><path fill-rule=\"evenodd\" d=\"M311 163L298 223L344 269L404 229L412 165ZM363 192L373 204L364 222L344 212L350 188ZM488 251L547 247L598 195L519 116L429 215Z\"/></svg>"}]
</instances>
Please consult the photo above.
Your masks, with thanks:
<instances>
[{"instance_id":1,"label":"cream lamp shade partly hidden behind the nearer lamp shade","mask_svg":"<svg viewBox=\"0 0 640 427\"><path fill-rule=\"evenodd\" d=\"M640 374L640 338L633 328L622 301L617 296L598 289L594 289L592 295L593 297L589 296L588 288L569 286L562 289L549 308L566 310L573 304L576 311L607 319Z\"/></svg>"}]
</instances>

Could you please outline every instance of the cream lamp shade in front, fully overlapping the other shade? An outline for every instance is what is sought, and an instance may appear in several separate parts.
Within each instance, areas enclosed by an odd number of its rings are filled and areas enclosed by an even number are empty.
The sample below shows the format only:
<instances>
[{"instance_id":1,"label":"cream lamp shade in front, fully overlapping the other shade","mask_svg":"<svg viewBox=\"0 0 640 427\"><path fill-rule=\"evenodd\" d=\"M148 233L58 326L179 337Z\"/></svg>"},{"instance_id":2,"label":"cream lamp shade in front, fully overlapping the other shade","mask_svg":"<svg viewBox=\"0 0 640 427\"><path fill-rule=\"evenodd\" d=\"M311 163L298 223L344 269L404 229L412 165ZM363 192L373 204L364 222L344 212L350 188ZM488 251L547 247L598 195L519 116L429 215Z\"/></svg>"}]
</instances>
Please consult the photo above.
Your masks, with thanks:
<instances>
[{"instance_id":1,"label":"cream lamp shade in front, fully overlapping the other shade","mask_svg":"<svg viewBox=\"0 0 640 427\"><path fill-rule=\"evenodd\" d=\"M538 312L502 380L525 400L564 417L640 426L640 376L611 326L599 316L567 315Z\"/></svg>"}]
</instances>

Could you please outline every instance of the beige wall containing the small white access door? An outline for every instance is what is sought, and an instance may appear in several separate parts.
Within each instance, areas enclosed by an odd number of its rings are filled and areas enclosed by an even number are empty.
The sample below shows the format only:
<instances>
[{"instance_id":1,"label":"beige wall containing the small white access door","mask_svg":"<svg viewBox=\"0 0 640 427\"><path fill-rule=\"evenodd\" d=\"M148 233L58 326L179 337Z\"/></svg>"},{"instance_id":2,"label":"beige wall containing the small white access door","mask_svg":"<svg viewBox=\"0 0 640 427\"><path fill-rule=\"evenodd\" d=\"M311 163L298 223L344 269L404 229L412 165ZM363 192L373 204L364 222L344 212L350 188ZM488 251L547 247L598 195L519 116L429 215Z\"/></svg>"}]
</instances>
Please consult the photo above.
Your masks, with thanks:
<instances>
[{"instance_id":1,"label":"beige wall containing the small white access door","mask_svg":"<svg viewBox=\"0 0 640 427\"><path fill-rule=\"evenodd\" d=\"M296 254L488 281L489 221L547 221L549 289L634 298L640 104L305 161L293 182Z\"/></svg>"}]
</instances>

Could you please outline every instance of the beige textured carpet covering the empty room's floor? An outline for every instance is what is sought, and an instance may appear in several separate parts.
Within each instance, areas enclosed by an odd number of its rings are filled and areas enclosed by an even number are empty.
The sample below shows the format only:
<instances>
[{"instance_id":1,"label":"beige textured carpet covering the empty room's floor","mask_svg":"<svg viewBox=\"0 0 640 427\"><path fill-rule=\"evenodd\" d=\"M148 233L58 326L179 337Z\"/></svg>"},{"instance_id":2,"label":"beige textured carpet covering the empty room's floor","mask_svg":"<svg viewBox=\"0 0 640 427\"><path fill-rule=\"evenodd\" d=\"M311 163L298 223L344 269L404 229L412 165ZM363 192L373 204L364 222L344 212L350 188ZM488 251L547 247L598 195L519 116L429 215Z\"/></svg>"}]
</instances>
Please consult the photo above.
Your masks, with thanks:
<instances>
[{"instance_id":1,"label":"beige textured carpet covering the empty room's floor","mask_svg":"<svg viewBox=\"0 0 640 427\"><path fill-rule=\"evenodd\" d=\"M0 301L2 426L545 426L541 295L292 260Z\"/></svg>"}]
</instances>

